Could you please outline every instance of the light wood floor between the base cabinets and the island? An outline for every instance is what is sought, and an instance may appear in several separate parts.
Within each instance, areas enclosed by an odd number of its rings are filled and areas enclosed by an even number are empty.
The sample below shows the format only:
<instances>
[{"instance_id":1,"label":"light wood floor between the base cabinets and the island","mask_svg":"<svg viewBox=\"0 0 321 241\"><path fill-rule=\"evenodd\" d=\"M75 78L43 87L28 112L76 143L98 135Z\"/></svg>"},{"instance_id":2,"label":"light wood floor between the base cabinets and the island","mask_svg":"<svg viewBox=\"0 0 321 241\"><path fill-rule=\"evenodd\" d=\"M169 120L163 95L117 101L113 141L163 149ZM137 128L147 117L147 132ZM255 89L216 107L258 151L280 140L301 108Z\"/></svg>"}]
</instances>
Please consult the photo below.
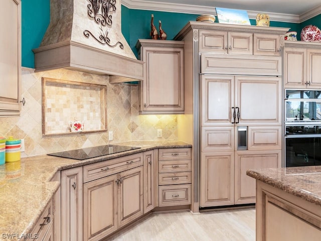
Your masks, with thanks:
<instances>
[{"instance_id":1,"label":"light wood floor between the base cabinets and the island","mask_svg":"<svg viewBox=\"0 0 321 241\"><path fill-rule=\"evenodd\" d=\"M113 241L255 241L255 208L153 213Z\"/></svg>"}]
</instances>

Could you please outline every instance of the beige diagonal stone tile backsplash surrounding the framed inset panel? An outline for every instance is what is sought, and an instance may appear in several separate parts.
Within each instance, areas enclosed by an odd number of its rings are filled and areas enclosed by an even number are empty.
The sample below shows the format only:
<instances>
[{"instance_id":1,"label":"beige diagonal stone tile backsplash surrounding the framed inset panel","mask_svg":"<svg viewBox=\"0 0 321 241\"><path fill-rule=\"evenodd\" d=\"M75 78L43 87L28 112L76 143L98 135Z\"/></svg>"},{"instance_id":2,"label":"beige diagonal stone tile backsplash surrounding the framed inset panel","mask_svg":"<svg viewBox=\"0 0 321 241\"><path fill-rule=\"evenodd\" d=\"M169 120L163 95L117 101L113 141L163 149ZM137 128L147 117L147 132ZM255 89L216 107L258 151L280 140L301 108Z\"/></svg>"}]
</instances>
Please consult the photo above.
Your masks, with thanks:
<instances>
[{"instance_id":1,"label":"beige diagonal stone tile backsplash surrounding the framed inset panel","mask_svg":"<svg viewBox=\"0 0 321 241\"><path fill-rule=\"evenodd\" d=\"M107 132L43 136L42 77L107 85ZM26 104L22 106L20 116L0 117L0 136L25 139L22 157L124 141L178 140L177 115L138 114L136 84L109 84L108 76L66 69L35 73L30 68L23 68L21 82ZM62 111L66 110L61 108L56 115L63 115ZM163 130L162 138L157 138L157 129ZM108 131L113 132L113 141L108 141Z\"/></svg>"}]
</instances>

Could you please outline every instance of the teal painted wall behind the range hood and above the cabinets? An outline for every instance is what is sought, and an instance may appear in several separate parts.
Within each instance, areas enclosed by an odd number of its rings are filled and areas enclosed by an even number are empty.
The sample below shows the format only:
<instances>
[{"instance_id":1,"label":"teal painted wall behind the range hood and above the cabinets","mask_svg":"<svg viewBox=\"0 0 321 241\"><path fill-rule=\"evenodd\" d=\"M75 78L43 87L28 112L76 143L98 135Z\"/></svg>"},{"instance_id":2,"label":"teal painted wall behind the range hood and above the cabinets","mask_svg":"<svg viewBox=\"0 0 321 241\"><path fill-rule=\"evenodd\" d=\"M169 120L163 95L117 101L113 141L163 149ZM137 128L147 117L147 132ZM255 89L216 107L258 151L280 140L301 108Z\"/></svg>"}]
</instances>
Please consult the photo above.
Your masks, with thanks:
<instances>
[{"instance_id":1,"label":"teal painted wall behind the range hood and above the cabinets","mask_svg":"<svg viewBox=\"0 0 321 241\"><path fill-rule=\"evenodd\" d=\"M158 21L162 21L162 28L167 33L168 40L173 40L175 35L189 22L195 21L199 15L167 13L159 11L132 10L121 7L122 33L131 49L137 56L135 48L138 39L150 39L150 16L154 15L154 25L158 29ZM40 46L41 40L50 22L50 0L22 0L22 66L34 68L33 49ZM255 25L255 20L250 20ZM314 17L302 24L283 22L270 22L271 27L290 28L299 35L301 29L307 24L321 23L321 15ZM319 24L320 25L320 24ZM321 26L318 26L319 28Z\"/></svg>"}]
</instances>

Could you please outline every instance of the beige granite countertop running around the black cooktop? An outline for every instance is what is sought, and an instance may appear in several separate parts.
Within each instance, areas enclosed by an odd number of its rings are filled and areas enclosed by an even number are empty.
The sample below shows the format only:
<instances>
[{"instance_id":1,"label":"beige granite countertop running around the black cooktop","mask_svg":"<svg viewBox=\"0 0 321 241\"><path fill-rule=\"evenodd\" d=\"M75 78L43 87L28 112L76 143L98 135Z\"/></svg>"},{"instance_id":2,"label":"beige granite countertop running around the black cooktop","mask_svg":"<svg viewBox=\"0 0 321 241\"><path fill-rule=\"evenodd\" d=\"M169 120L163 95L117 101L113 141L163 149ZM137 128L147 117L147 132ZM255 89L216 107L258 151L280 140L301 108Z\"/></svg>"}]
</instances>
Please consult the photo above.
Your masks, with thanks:
<instances>
[{"instance_id":1,"label":"beige granite countertop running around the black cooktop","mask_svg":"<svg viewBox=\"0 0 321 241\"><path fill-rule=\"evenodd\" d=\"M37 219L59 188L59 182L50 181L57 171L158 148L192 147L181 141L133 141L112 145L141 148L86 160L41 155L1 165L0 240L23 240L19 237L32 231ZM9 235L12 235L12 238L9 238Z\"/></svg>"}]
</instances>

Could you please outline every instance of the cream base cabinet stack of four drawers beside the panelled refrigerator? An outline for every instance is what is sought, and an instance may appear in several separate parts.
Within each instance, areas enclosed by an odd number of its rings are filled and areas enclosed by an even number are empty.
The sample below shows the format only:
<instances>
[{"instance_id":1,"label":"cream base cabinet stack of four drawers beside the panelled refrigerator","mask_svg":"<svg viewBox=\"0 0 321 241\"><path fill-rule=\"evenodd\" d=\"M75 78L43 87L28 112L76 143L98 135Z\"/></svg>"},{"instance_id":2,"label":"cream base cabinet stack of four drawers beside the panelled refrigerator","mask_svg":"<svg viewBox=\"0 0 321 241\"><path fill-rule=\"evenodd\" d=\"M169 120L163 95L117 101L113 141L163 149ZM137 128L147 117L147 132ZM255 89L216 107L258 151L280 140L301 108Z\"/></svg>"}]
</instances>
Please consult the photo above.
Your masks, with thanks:
<instances>
[{"instance_id":1,"label":"cream base cabinet stack of four drawers beside the panelled refrigerator","mask_svg":"<svg viewBox=\"0 0 321 241\"><path fill-rule=\"evenodd\" d=\"M158 205L191 204L190 148L158 149Z\"/></svg>"}]
</instances>

